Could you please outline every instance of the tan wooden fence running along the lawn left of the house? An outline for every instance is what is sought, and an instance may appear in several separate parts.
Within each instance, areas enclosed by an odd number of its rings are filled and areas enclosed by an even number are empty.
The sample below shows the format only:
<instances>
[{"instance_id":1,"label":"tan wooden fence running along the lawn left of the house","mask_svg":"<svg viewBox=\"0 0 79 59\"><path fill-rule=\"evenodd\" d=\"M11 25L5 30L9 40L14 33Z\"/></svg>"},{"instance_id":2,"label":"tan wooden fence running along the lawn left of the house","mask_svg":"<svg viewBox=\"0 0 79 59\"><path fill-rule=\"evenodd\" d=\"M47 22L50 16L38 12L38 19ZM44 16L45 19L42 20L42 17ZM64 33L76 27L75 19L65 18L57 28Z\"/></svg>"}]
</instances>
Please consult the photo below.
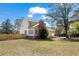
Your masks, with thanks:
<instances>
[{"instance_id":1,"label":"tan wooden fence running along the lawn left of the house","mask_svg":"<svg viewBox=\"0 0 79 59\"><path fill-rule=\"evenodd\" d=\"M26 38L25 34L0 34L0 40L24 39L24 38Z\"/></svg>"}]
</instances>

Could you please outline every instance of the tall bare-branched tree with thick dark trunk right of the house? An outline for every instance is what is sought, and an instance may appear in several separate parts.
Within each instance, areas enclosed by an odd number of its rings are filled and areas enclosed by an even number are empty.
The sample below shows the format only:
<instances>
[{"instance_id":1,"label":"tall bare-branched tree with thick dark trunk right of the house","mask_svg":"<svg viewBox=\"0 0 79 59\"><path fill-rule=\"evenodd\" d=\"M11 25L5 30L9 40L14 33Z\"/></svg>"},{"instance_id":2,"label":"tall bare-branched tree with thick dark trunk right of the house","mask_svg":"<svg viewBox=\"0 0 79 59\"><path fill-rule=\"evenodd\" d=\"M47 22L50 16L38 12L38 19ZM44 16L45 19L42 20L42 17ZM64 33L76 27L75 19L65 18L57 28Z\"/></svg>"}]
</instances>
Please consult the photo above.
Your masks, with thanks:
<instances>
[{"instance_id":1,"label":"tall bare-branched tree with thick dark trunk right of the house","mask_svg":"<svg viewBox=\"0 0 79 59\"><path fill-rule=\"evenodd\" d=\"M68 29L69 29L69 20L71 19L71 12L73 12L75 9L74 6L76 4L68 4L68 3L62 3L62 4L50 4L51 12L48 13L47 16L51 17L54 21L63 21L62 24L64 26L66 38L69 38L68 36ZM50 20L51 21L51 20Z\"/></svg>"}]
</instances>

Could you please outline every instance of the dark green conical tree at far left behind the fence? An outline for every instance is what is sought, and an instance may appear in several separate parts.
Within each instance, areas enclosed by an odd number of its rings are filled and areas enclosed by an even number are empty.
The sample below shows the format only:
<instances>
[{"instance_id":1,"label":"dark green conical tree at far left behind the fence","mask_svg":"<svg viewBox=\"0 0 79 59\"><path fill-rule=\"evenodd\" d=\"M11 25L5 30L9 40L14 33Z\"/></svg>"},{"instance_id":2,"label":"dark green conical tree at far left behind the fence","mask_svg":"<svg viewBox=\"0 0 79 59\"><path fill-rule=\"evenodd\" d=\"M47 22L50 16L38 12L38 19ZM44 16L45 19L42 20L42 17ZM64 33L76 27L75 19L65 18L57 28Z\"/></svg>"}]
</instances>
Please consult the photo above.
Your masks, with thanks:
<instances>
[{"instance_id":1,"label":"dark green conical tree at far left behind the fence","mask_svg":"<svg viewBox=\"0 0 79 59\"><path fill-rule=\"evenodd\" d=\"M2 22L0 33L1 34L14 34L15 33L14 27L11 24L9 19L7 19L6 21Z\"/></svg>"}]
</instances>

